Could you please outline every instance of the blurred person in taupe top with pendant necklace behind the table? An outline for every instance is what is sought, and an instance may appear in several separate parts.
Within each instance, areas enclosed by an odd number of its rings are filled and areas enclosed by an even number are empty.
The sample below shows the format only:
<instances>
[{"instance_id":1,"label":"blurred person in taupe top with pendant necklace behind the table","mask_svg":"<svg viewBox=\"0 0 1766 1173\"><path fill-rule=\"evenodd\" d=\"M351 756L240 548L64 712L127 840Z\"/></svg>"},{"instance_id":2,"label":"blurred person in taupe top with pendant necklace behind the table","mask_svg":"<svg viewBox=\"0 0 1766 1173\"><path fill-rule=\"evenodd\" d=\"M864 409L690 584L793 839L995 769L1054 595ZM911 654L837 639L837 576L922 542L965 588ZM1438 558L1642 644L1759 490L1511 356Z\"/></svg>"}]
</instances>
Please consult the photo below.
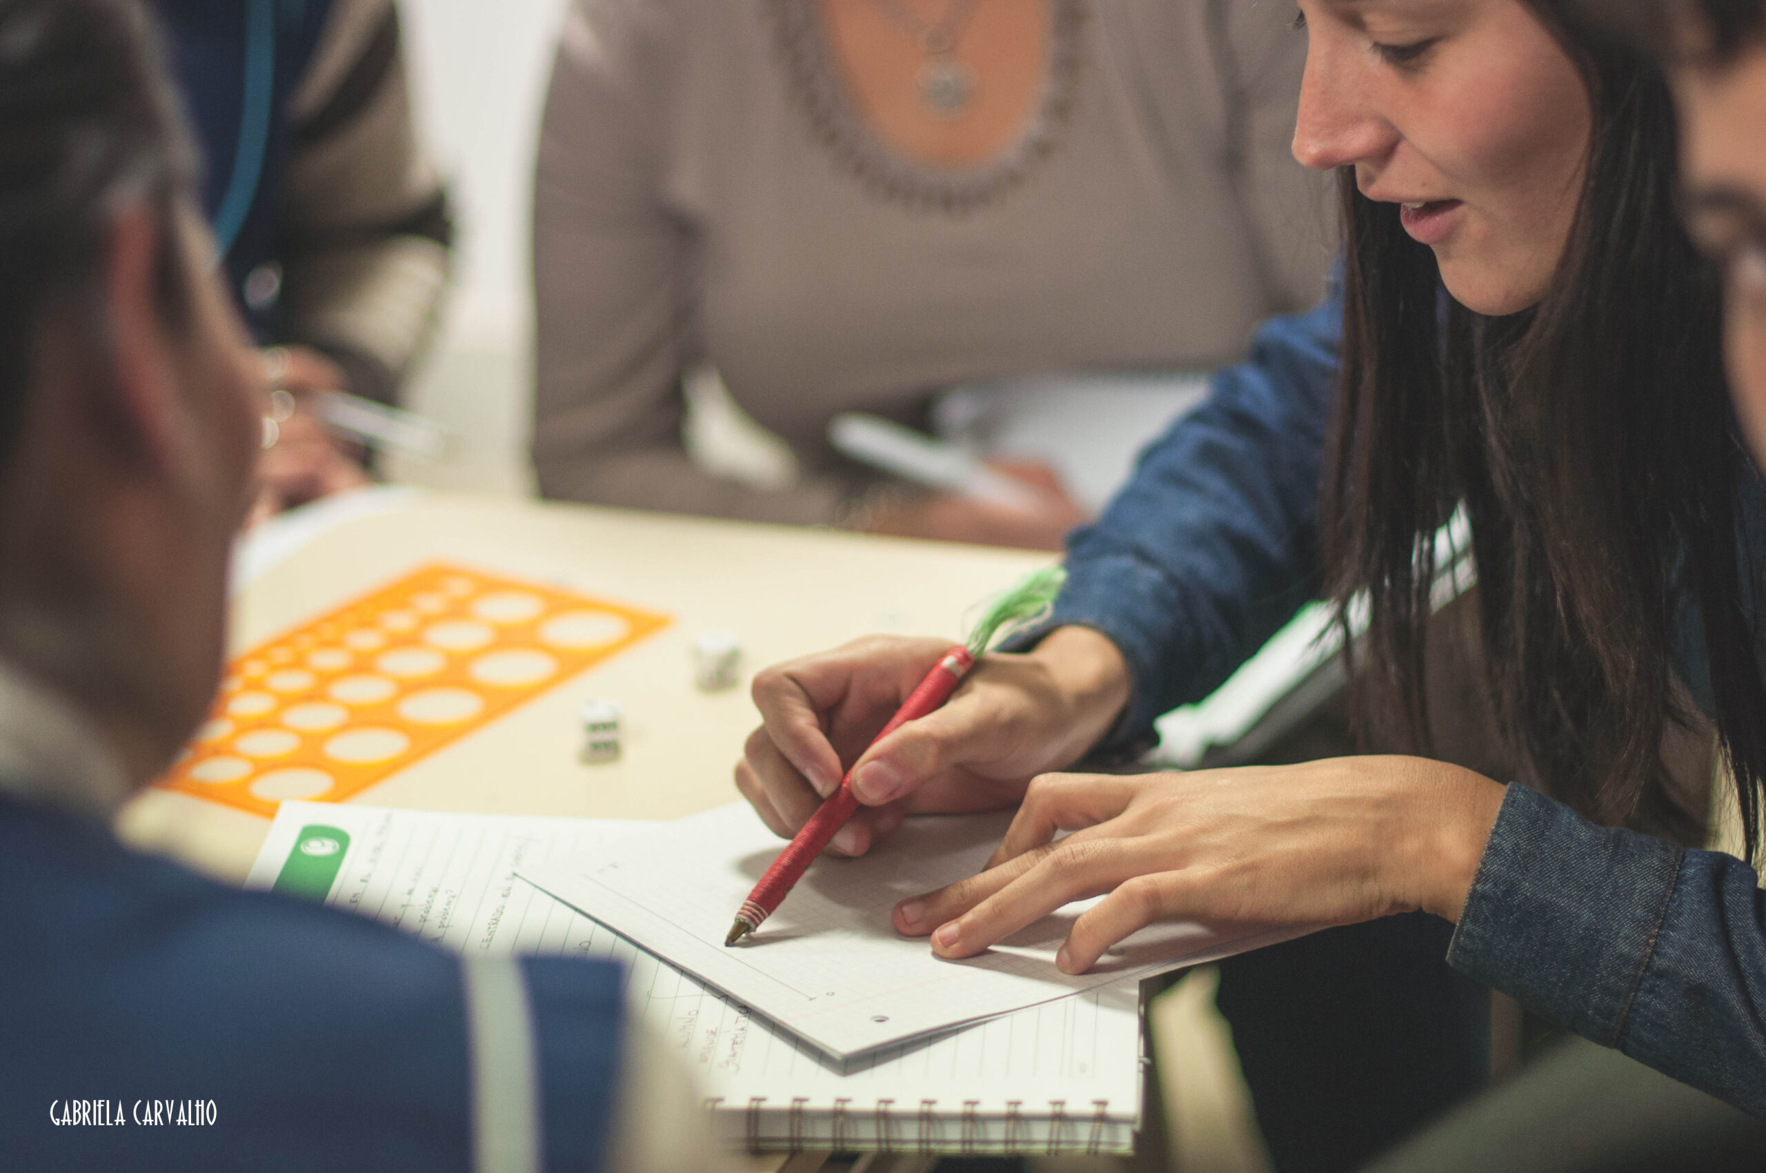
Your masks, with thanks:
<instances>
[{"instance_id":1,"label":"blurred person in taupe top with pendant necklace behind the table","mask_svg":"<svg viewBox=\"0 0 1766 1173\"><path fill-rule=\"evenodd\" d=\"M1058 548L1097 503L1058 459L1010 466L1042 502L1014 511L844 461L828 424L927 429L941 392L1014 380L1060 405L1070 378L1091 399L1053 426L1060 458L1106 428L1095 376L1234 360L1316 302L1332 230L1289 155L1291 23L1226 0L572 0L535 191L542 493ZM703 371L795 479L691 459Z\"/></svg>"}]
</instances>

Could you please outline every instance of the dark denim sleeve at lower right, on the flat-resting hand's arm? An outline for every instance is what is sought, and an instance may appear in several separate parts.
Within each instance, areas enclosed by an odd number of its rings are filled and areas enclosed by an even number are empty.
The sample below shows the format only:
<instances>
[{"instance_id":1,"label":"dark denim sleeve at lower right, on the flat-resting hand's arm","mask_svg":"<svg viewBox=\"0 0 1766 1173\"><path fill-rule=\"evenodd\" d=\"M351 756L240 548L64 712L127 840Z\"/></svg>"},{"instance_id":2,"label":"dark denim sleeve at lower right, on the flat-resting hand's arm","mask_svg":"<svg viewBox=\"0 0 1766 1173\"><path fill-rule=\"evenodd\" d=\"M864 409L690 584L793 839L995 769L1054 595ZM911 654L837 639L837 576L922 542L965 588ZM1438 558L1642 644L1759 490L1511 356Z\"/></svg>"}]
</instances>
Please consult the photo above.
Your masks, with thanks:
<instances>
[{"instance_id":1,"label":"dark denim sleeve at lower right, on the flat-resting hand's arm","mask_svg":"<svg viewBox=\"0 0 1766 1173\"><path fill-rule=\"evenodd\" d=\"M1596 827L1512 784L1448 963L1766 1116L1766 904L1732 855Z\"/></svg>"}]
</instances>

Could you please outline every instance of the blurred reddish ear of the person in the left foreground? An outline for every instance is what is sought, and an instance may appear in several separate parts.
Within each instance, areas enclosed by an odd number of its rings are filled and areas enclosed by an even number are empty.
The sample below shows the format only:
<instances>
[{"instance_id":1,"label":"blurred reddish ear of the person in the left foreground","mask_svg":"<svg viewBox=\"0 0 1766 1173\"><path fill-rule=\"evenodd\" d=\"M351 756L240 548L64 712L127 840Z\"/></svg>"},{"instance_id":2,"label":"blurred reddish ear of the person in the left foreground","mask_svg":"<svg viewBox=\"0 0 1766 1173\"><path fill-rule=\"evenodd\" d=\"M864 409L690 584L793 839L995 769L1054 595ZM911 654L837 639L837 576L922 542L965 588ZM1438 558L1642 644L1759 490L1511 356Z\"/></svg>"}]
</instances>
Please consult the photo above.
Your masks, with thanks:
<instances>
[{"instance_id":1,"label":"blurred reddish ear of the person in the left foreground","mask_svg":"<svg viewBox=\"0 0 1766 1173\"><path fill-rule=\"evenodd\" d=\"M171 468L187 447L189 405L178 387L178 322L187 314L161 304L166 263L178 263L164 212L138 201L111 221L102 276L101 325L108 344L95 357L88 394L102 413L102 433L124 449L122 459Z\"/></svg>"}]
</instances>

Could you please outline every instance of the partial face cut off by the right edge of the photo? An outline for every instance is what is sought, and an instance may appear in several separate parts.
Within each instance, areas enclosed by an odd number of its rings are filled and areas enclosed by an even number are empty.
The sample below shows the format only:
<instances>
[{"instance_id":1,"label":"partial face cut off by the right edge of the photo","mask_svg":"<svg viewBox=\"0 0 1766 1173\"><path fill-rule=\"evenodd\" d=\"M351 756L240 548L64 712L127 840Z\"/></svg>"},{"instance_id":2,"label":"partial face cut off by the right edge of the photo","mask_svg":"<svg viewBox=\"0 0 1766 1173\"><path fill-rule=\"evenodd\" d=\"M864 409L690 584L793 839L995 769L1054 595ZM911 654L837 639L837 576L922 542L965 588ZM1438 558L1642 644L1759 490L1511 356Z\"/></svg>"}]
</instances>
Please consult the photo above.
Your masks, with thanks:
<instances>
[{"instance_id":1,"label":"partial face cut off by the right edge of the photo","mask_svg":"<svg viewBox=\"0 0 1766 1173\"><path fill-rule=\"evenodd\" d=\"M1766 466L1766 44L1671 72L1692 238L1724 270L1724 357Z\"/></svg>"}]
</instances>

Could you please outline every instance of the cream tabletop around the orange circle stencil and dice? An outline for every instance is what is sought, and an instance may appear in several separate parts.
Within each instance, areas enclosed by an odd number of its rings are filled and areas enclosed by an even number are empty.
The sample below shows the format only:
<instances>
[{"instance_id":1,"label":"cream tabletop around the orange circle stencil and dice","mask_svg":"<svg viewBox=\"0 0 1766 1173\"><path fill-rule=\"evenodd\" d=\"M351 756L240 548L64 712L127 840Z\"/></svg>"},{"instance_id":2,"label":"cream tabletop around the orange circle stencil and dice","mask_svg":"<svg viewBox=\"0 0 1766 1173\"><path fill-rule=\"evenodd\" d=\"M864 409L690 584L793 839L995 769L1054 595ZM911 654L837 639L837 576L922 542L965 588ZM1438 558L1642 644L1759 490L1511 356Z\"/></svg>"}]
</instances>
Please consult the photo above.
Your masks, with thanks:
<instances>
[{"instance_id":1,"label":"cream tabletop around the orange circle stencil and dice","mask_svg":"<svg viewBox=\"0 0 1766 1173\"><path fill-rule=\"evenodd\" d=\"M756 668L871 632L955 638L984 597L1047 555L669 514L422 493L350 518L233 599L233 652L427 562L449 560L662 611L660 632L468 733L353 802L434 811L678 818L736 798L731 770L759 717ZM731 631L742 684L699 692L691 641ZM579 758L576 712L620 703L622 760ZM150 790L118 820L136 846L238 883L268 820Z\"/></svg>"}]
</instances>

